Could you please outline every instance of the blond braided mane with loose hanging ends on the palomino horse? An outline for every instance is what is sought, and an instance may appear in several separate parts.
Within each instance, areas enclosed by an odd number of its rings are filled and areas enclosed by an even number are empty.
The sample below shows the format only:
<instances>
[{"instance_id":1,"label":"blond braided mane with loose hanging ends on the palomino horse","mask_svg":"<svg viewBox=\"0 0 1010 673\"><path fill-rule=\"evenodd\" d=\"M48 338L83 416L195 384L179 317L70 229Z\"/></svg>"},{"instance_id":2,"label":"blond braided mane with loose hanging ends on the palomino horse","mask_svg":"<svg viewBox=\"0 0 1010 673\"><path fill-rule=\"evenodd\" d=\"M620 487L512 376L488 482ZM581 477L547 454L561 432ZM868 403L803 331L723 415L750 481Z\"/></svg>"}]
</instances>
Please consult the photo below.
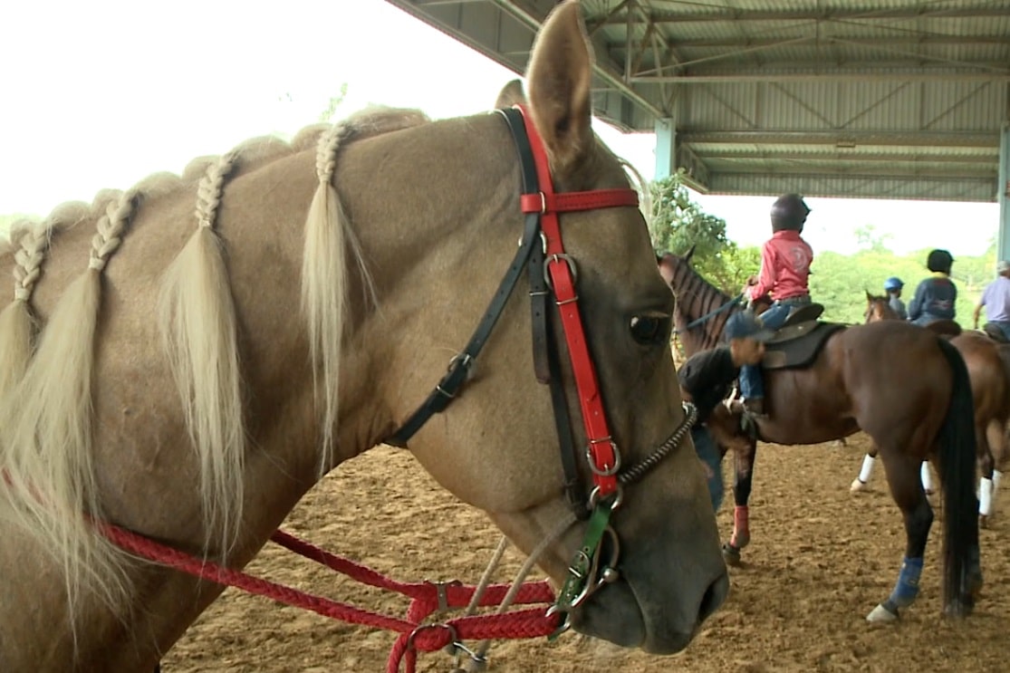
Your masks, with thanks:
<instances>
[{"instance_id":1,"label":"blond braided mane with loose hanging ends on the palomino horse","mask_svg":"<svg viewBox=\"0 0 1010 673\"><path fill-rule=\"evenodd\" d=\"M126 604L131 590L126 559L95 535L88 516L102 517L92 405L103 294L113 285L105 272L138 213L156 210L166 195L195 191L193 232L164 272L156 313L198 458L204 553L226 563L242 521L247 453L240 325L224 242L215 230L228 185L243 174L316 149L318 189L305 225L302 293L313 366L320 372L320 466L325 466L337 417L338 357L346 330L346 259L357 261L371 291L332 184L336 163L351 140L426 121L414 110L372 108L332 127L308 126L290 143L254 138L220 157L194 160L182 176L158 173L125 192L102 191L91 205L67 203L41 222L19 222L12 229L10 243L0 251L5 261L13 254L15 281L0 312L0 516L15 521L56 559L72 614L85 593L117 607ZM81 260L79 275L40 324L31 298L46 276L50 245L59 244L61 230L85 223L95 227L87 263ZM241 228L234 230L238 235Z\"/></svg>"}]
</instances>

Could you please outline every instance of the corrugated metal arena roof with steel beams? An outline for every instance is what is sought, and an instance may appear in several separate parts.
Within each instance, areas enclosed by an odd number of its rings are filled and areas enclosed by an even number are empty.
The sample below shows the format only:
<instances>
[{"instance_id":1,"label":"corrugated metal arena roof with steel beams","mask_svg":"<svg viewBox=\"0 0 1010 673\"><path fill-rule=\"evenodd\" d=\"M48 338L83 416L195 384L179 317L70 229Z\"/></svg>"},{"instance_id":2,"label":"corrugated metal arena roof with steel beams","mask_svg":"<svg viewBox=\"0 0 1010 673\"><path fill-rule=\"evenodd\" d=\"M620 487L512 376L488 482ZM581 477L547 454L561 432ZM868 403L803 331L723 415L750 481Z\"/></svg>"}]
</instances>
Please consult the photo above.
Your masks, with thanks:
<instances>
[{"instance_id":1,"label":"corrugated metal arena roof with steel beams","mask_svg":"<svg viewBox=\"0 0 1010 673\"><path fill-rule=\"evenodd\" d=\"M554 4L389 2L517 71ZM673 119L702 189L804 191L802 180L820 195L995 198L1010 121L1007 0L582 5L597 113L636 130Z\"/></svg>"}]
</instances>

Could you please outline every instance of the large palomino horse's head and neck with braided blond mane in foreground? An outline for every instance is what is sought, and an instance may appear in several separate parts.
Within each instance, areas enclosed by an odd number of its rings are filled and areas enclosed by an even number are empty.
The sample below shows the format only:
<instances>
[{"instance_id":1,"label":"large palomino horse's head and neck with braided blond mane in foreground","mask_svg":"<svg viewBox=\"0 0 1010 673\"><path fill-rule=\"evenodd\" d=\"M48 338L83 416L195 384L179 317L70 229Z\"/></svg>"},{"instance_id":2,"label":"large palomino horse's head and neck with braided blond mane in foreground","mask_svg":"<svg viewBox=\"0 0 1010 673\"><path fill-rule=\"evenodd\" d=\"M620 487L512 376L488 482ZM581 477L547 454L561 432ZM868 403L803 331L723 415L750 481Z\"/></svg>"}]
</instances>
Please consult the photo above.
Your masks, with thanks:
<instances>
[{"instance_id":1,"label":"large palomino horse's head and neck with braided blond mane in foreground","mask_svg":"<svg viewBox=\"0 0 1010 673\"><path fill-rule=\"evenodd\" d=\"M576 630L684 648L728 580L679 443L674 298L592 132L592 79L570 0L522 113L372 110L19 228L0 260L0 670L153 670L223 587L101 522L240 568L383 442L543 549Z\"/></svg>"}]
</instances>

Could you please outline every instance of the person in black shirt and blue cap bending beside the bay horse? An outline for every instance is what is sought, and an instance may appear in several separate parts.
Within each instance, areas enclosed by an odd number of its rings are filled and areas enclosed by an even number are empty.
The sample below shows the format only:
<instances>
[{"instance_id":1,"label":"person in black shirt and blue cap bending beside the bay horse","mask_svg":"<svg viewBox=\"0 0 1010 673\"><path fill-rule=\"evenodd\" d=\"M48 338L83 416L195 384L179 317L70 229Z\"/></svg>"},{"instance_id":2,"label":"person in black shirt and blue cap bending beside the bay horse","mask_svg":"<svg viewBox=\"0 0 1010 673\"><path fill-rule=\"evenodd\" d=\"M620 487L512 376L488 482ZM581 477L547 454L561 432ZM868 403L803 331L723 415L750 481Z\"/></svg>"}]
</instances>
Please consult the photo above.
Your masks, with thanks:
<instances>
[{"instance_id":1,"label":"person in black shirt and blue cap bending beside the bay horse","mask_svg":"<svg viewBox=\"0 0 1010 673\"><path fill-rule=\"evenodd\" d=\"M691 356L678 371L683 397L698 409L698 419L691 427L698 458L708 473L708 494L712 509L722 504L722 452L715 444L706 421L729 395L743 365L756 365L765 355L765 342L773 331L765 327L751 311L733 313L722 328L726 346Z\"/></svg>"}]
</instances>

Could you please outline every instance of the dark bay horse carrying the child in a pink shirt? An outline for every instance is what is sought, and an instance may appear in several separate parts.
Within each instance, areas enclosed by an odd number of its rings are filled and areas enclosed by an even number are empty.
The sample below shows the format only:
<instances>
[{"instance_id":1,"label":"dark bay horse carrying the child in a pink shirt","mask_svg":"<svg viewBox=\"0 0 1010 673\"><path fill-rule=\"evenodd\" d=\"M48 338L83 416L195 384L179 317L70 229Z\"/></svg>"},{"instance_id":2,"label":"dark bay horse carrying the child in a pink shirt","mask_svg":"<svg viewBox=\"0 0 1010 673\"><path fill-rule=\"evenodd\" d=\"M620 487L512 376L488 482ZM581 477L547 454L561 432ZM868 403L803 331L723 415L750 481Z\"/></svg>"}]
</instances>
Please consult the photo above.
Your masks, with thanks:
<instances>
[{"instance_id":1,"label":"dark bay horse carrying the child in a pink shirt","mask_svg":"<svg viewBox=\"0 0 1010 673\"><path fill-rule=\"evenodd\" d=\"M661 273L677 297L675 325L688 353L721 341L737 301L705 281L685 257L664 256ZM944 609L968 612L981 586L975 425L968 371L957 351L920 327L897 321L830 333L805 369L765 372L767 417L753 432L723 407L709 420L716 440L735 458L733 537L723 546L739 562L749 541L747 498L756 439L774 444L818 444L862 428L879 448L895 502L905 519L905 560L894 593L868 616L893 619L918 591L918 570L933 520L919 482L919 465L935 458L944 486Z\"/></svg>"}]
</instances>

